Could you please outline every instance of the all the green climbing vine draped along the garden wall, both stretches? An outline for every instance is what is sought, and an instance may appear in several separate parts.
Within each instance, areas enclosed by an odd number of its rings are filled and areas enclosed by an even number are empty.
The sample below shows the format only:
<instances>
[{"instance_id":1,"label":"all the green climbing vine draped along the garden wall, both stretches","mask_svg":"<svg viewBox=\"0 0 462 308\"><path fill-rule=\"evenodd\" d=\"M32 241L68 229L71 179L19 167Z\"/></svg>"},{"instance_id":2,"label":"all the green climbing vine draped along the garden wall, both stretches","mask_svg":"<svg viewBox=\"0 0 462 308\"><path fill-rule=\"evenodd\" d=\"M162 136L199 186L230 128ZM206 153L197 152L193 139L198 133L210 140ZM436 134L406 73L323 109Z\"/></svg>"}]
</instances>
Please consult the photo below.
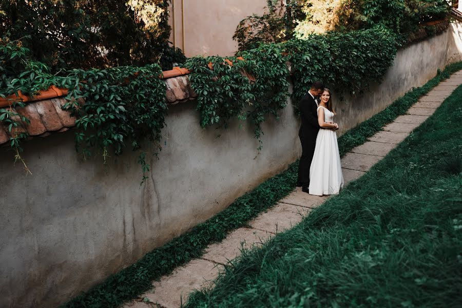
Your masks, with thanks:
<instances>
[{"instance_id":1,"label":"all the green climbing vine draped along the garden wall, both stretches","mask_svg":"<svg viewBox=\"0 0 462 308\"><path fill-rule=\"evenodd\" d=\"M226 128L230 122L249 120L261 149L261 125L276 119L290 94L288 75L294 81L293 101L299 99L315 80L339 93L357 94L379 83L392 65L399 43L383 26L347 33L311 34L307 40L269 43L242 51L239 57L193 57L185 63L189 80L198 94L196 109L201 127ZM83 157L99 153L120 155L128 146L139 151L143 174L150 170L145 141L158 144L164 127L167 104L161 67L120 66L107 69L73 69L52 73L32 61L21 41L0 42L0 96L22 91L34 95L51 85L68 89L64 108L76 117L75 146ZM290 67L290 69L289 69ZM12 101L0 109L0 121L10 132L11 146L20 158L20 128L27 119ZM242 123L241 123L242 124ZM155 152L157 152L155 150Z\"/></svg>"}]
</instances>

